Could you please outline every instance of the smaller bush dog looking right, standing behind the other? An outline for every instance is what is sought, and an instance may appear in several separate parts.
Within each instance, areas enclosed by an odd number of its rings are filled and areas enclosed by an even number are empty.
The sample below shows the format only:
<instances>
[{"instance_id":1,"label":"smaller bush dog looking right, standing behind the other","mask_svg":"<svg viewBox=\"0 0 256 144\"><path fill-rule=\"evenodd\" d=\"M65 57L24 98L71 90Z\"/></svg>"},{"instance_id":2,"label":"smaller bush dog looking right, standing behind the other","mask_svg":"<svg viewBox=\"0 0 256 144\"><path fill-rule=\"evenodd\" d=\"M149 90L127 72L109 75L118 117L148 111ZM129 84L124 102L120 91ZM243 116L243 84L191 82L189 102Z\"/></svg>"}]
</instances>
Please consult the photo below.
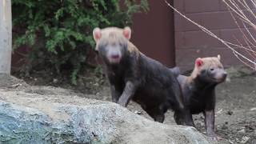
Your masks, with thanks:
<instances>
[{"instance_id":1,"label":"smaller bush dog looking right, standing behind the other","mask_svg":"<svg viewBox=\"0 0 256 144\"><path fill-rule=\"evenodd\" d=\"M174 74L179 73L177 68L170 70ZM178 75L185 106L190 109L191 114L201 112L204 114L206 132L215 140L218 139L214 133L215 86L225 79L226 71L223 69L219 55L212 58L197 58L194 71L189 77ZM175 112L174 118L178 124L181 124L184 119L179 118L178 115Z\"/></svg>"}]
</instances>

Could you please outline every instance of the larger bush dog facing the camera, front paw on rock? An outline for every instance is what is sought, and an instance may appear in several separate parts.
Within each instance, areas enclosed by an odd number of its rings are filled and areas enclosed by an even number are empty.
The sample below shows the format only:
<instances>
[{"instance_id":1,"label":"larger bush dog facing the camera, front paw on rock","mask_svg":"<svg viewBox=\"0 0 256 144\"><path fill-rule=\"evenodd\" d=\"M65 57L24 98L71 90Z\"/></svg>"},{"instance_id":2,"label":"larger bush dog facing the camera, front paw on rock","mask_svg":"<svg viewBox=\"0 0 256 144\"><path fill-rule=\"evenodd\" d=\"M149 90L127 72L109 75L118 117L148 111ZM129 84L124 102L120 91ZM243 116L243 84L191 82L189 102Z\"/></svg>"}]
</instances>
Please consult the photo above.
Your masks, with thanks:
<instances>
[{"instance_id":1,"label":"larger bush dog facing the camera, front paw on rock","mask_svg":"<svg viewBox=\"0 0 256 144\"><path fill-rule=\"evenodd\" d=\"M132 99L157 122L164 121L168 109L186 117L177 78L166 66L142 54L129 41L130 33L129 27L94 29L96 50L106 66L113 102L127 106Z\"/></svg>"}]
</instances>

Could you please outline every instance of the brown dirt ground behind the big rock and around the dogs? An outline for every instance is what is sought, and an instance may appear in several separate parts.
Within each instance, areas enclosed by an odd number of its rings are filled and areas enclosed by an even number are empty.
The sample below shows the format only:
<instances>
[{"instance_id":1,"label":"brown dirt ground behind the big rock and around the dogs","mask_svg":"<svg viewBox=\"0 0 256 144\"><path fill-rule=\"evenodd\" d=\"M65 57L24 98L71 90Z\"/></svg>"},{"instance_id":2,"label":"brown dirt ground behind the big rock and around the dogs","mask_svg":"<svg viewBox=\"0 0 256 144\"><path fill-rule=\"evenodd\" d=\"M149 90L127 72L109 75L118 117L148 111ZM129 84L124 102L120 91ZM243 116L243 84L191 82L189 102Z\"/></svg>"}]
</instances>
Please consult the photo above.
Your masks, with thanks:
<instances>
[{"instance_id":1,"label":"brown dirt ground behind the big rock and around the dogs","mask_svg":"<svg viewBox=\"0 0 256 144\"><path fill-rule=\"evenodd\" d=\"M222 138L218 143L248 143L256 144L256 74L250 70L229 69L229 78L217 87L217 106L215 115L215 128ZM30 90L38 94L75 94L79 97L94 98L110 101L110 89L104 78L90 77L86 82L80 82L79 86L65 85L61 78L53 78L49 75L34 74L30 78L24 78L29 86L18 83L17 80L9 82L8 90ZM56 82L57 81L57 82ZM79 81L79 80L78 80ZM37 86L41 85L41 86ZM66 89L42 86L62 86ZM1 88L0 84L0 88ZM6 87L6 86L5 86ZM150 118L134 102L130 102L128 109L136 114ZM150 118L151 119L151 118ZM206 134L204 118L202 114L194 115L194 122L199 131ZM166 124L175 124L173 112L166 113Z\"/></svg>"}]
</instances>

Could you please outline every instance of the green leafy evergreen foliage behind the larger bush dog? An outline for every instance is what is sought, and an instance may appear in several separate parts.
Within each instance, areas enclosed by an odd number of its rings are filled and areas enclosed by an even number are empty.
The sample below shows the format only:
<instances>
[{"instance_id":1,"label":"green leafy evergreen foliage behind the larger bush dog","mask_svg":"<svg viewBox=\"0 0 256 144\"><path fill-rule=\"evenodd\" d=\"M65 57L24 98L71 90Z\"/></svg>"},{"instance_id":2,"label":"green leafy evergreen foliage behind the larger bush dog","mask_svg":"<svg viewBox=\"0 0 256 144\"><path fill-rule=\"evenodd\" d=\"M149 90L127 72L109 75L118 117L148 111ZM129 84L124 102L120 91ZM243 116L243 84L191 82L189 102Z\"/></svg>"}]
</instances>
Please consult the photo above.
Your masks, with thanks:
<instances>
[{"instance_id":1,"label":"green leafy evergreen foliage behind the larger bush dog","mask_svg":"<svg viewBox=\"0 0 256 144\"><path fill-rule=\"evenodd\" d=\"M94 27L129 26L132 14L148 10L147 0L12 0L14 49L30 47L31 67L69 66L71 81L94 48Z\"/></svg>"}]
</instances>

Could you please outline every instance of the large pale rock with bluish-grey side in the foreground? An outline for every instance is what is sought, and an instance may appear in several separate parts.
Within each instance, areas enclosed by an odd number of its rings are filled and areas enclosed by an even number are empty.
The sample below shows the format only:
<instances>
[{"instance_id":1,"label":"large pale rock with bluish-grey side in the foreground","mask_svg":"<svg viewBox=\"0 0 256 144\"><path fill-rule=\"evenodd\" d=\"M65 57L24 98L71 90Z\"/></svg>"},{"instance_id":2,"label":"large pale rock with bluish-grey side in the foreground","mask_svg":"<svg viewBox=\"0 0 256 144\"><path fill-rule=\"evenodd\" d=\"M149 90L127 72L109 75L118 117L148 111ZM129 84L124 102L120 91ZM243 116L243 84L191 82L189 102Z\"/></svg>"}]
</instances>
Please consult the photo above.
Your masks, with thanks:
<instances>
[{"instance_id":1,"label":"large pale rock with bluish-grey side in the foreground","mask_svg":"<svg viewBox=\"0 0 256 144\"><path fill-rule=\"evenodd\" d=\"M0 90L0 143L210 143L112 102Z\"/></svg>"}]
</instances>

